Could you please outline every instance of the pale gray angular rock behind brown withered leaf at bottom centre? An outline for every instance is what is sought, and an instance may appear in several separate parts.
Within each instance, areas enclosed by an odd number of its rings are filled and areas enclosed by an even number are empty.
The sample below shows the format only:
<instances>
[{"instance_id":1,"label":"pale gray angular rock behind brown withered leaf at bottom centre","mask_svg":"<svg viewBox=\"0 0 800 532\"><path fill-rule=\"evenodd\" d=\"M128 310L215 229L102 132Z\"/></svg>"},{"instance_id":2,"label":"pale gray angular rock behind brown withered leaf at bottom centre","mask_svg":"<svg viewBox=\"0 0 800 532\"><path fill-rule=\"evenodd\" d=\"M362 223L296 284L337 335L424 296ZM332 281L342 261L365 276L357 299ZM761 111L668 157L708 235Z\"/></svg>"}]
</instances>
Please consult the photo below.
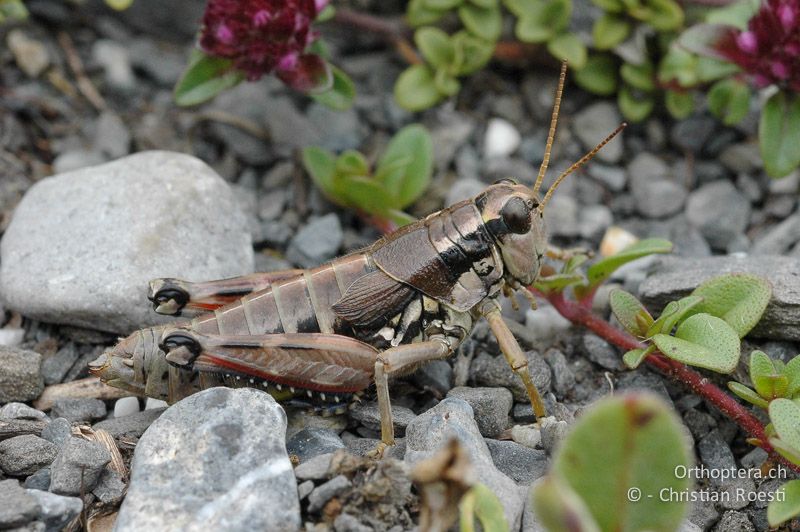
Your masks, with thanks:
<instances>
[{"instance_id":1,"label":"pale gray angular rock behind brown withered leaf at bottom centre","mask_svg":"<svg viewBox=\"0 0 800 532\"><path fill-rule=\"evenodd\" d=\"M448 397L408 425L405 461L413 466L430 458L451 438L458 438L470 455L477 478L503 503L510 529L519 530L525 490L495 467L472 408L464 400Z\"/></svg>"}]
</instances>

